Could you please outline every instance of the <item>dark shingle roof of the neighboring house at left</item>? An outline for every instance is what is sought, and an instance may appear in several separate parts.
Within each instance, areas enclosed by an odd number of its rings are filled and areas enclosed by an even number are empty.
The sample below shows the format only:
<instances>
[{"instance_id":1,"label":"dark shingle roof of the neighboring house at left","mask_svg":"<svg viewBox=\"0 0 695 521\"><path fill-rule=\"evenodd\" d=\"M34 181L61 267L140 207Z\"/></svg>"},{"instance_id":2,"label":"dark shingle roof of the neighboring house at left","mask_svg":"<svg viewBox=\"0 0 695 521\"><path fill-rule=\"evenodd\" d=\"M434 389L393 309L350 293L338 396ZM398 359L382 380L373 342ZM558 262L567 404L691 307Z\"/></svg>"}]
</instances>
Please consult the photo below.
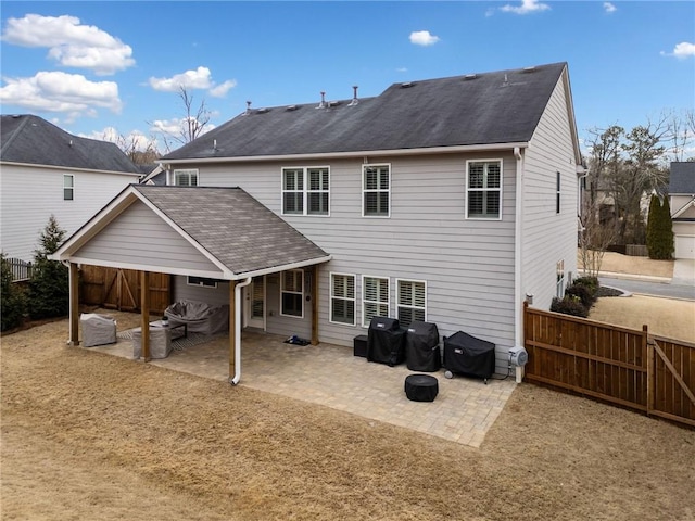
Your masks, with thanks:
<instances>
[{"instance_id":1,"label":"dark shingle roof of the neighboring house at left","mask_svg":"<svg viewBox=\"0 0 695 521\"><path fill-rule=\"evenodd\" d=\"M114 143L73 136L30 114L3 115L0 136L0 161L140 174Z\"/></svg>"}]
</instances>

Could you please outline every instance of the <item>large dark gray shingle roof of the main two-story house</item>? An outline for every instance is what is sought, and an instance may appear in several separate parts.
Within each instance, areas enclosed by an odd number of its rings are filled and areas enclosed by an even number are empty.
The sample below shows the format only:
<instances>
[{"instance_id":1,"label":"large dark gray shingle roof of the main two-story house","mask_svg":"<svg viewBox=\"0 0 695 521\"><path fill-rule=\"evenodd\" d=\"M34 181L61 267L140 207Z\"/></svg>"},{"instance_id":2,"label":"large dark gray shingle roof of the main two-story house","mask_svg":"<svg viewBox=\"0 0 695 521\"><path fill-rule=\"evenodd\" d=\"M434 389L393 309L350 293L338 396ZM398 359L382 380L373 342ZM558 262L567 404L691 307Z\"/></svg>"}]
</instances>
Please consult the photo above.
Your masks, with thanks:
<instances>
[{"instance_id":1,"label":"large dark gray shingle roof of the main two-story house","mask_svg":"<svg viewBox=\"0 0 695 521\"><path fill-rule=\"evenodd\" d=\"M566 66L394 84L353 106L343 100L252 110L164 160L526 142Z\"/></svg>"}]
</instances>

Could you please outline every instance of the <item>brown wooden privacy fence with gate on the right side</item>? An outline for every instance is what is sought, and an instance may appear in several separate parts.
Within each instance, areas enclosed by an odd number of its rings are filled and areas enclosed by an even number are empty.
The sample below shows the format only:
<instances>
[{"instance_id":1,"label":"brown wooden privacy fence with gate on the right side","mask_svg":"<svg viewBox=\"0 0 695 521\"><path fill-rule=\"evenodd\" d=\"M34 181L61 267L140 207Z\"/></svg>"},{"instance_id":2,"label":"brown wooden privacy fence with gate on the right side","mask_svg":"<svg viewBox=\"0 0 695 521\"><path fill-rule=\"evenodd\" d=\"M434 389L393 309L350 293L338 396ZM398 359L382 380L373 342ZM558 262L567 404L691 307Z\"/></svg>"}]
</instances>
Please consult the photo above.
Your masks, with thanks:
<instances>
[{"instance_id":1,"label":"brown wooden privacy fence with gate on the right side","mask_svg":"<svg viewBox=\"0 0 695 521\"><path fill-rule=\"evenodd\" d=\"M525 380L695 427L695 344L525 306Z\"/></svg>"}]
</instances>

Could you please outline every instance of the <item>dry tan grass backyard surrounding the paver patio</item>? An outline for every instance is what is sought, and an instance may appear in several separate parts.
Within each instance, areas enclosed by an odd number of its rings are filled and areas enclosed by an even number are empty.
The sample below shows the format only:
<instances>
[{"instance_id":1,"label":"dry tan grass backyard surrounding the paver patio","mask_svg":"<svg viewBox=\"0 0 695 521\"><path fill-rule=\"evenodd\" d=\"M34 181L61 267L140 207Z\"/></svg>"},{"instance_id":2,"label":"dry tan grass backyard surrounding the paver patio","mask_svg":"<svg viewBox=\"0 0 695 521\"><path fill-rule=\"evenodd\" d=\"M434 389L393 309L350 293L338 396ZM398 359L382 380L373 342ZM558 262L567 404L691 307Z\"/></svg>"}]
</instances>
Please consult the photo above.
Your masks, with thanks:
<instances>
[{"instance_id":1,"label":"dry tan grass backyard surrounding the paver patio","mask_svg":"<svg viewBox=\"0 0 695 521\"><path fill-rule=\"evenodd\" d=\"M3 520L695 519L695 431L634 412L521 384L475 449L66 334L2 338Z\"/></svg>"}]
</instances>

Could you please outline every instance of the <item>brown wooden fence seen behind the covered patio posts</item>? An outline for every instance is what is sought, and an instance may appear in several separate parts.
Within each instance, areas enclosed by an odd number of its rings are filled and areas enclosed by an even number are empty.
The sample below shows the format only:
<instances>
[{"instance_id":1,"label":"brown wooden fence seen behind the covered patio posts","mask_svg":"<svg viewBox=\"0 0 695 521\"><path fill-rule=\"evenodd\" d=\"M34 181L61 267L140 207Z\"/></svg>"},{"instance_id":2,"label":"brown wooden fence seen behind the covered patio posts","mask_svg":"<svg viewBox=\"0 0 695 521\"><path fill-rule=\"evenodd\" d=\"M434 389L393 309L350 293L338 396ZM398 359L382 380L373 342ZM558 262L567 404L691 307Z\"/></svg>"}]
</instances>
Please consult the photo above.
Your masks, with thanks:
<instances>
[{"instance_id":1,"label":"brown wooden fence seen behind the covered patio posts","mask_svg":"<svg viewBox=\"0 0 695 521\"><path fill-rule=\"evenodd\" d=\"M140 309L140 271L83 266L79 275L80 303L124 312ZM169 276L150 274L150 312L164 313L170 303Z\"/></svg>"}]
</instances>

